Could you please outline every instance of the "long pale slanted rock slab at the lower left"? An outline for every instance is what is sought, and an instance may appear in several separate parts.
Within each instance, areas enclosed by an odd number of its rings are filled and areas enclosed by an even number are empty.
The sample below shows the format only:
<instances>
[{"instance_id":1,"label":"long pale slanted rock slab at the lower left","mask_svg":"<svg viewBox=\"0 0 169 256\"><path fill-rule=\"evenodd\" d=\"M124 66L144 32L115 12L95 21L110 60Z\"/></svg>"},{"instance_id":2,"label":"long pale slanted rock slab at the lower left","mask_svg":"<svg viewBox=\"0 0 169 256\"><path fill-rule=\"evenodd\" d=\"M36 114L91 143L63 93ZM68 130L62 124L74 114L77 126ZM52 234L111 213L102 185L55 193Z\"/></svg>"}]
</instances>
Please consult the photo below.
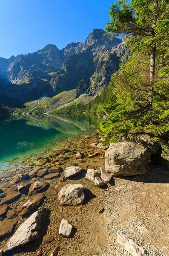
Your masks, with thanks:
<instances>
[{"instance_id":1,"label":"long pale slanted rock slab at the lower left","mask_svg":"<svg viewBox=\"0 0 169 256\"><path fill-rule=\"evenodd\" d=\"M14 235L8 241L8 250L22 247L23 245L29 244L38 238L44 212L44 209L34 212L18 227Z\"/></svg>"}]
</instances>

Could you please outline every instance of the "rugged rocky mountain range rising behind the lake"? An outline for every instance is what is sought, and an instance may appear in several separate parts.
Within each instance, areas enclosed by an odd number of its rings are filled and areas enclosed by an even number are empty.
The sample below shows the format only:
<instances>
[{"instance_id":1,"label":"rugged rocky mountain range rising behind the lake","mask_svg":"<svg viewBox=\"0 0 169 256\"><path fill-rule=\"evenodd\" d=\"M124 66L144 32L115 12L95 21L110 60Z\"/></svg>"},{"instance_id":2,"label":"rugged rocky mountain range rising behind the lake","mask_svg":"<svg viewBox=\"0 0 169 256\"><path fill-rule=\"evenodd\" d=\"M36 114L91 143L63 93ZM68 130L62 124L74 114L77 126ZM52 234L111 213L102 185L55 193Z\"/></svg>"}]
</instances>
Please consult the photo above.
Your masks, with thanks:
<instances>
[{"instance_id":1,"label":"rugged rocky mountain range rising behind the lake","mask_svg":"<svg viewBox=\"0 0 169 256\"><path fill-rule=\"evenodd\" d=\"M118 70L120 57L129 54L119 38L109 39L104 34L103 29L93 29L84 44L71 43L61 50L48 44L37 52L0 58L0 105L25 108L26 102L43 97L52 109L65 103L62 100L55 105L59 100L54 104L51 100L65 91L66 103L72 90L73 100L82 94L93 97L100 93Z\"/></svg>"}]
</instances>

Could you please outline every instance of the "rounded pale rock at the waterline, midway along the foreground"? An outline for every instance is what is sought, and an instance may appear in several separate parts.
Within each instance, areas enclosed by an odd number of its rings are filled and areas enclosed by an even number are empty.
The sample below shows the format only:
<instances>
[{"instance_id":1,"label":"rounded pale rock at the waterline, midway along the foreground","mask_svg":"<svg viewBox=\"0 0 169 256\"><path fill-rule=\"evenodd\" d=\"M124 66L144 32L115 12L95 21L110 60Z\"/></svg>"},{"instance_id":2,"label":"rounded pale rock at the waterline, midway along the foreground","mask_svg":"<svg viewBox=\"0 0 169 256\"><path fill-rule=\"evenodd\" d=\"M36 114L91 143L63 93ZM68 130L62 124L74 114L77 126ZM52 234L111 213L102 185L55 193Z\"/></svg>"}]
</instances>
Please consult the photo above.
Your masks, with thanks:
<instances>
[{"instance_id":1,"label":"rounded pale rock at the waterline, midway along the foreground","mask_svg":"<svg viewBox=\"0 0 169 256\"><path fill-rule=\"evenodd\" d=\"M65 205L78 205L84 201L83 186L81 184L67 184L58 193L58 201Z\"/></svg>"}]
</instances>

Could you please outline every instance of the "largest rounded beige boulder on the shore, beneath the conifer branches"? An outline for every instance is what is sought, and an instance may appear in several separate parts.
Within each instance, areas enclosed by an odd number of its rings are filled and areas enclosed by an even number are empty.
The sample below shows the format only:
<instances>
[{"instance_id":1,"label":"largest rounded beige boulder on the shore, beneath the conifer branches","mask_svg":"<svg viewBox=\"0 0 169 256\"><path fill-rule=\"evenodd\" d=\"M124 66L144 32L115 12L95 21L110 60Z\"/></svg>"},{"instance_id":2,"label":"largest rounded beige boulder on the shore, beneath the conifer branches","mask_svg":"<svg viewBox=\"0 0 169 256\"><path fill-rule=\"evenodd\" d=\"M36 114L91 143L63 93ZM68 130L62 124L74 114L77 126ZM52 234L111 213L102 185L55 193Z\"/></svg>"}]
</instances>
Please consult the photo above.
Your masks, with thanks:
<instances>
[{"instance_id":1,"label":"largest rounded beige boulder on the shore, beneath the conifer branches","mask_svg":"<svg viewBox=\"0 0 169 256\"><path fill-rule=\"evenodd\" d=\"M105 170L114 176L131 176L147 172L150 153L132 142L110 144L105 153Z\"/></svg>"}]
</instances>

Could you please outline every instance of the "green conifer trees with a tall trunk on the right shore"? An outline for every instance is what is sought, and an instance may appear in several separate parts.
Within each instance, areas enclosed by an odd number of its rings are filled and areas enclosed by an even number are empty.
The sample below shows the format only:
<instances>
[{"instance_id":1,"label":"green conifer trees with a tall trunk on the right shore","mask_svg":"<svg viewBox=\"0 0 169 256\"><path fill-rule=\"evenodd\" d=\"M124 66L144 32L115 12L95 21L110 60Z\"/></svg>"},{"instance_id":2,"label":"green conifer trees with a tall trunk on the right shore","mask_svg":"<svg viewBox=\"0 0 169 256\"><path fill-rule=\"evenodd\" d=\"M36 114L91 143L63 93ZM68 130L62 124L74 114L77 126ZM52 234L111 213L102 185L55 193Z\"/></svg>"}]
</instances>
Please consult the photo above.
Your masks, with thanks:
<instances>
[{"instance_id":1,"label":"green conifer trees with a tall trunk on the right shore","mask_svg":"<svg viewBox=\"0 0 169 256\"><path fill-rule=\"evenodd\" d=\"M122 35L128 61L112 75L112 103L100 129L104 143L126 134L148 133L166 150L169 133L169 1L119 0L111 5L107 35ZM92 103L91 103L92 105ZM98 109L100 113L100 107Z\"/></svg>"}]
</instances>

